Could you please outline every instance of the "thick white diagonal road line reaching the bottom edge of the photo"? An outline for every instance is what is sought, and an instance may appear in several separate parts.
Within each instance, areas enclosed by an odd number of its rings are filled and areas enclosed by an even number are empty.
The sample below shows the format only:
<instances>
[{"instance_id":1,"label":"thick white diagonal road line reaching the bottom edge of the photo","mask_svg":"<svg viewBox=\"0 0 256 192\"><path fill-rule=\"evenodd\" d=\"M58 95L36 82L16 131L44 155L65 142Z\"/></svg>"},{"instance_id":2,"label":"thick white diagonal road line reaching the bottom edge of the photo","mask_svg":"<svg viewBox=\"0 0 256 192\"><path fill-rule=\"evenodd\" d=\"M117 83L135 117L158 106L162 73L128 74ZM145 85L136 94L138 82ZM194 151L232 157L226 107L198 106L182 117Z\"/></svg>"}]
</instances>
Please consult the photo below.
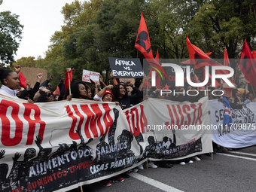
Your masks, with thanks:
<instances>
[{"instance_id":1,"label":"thick white diagonal road line reaching the bottom edge of the photo","mask_svg":"<svg viewBox=\"0 0 256 192\"><path fill-rule=\"evenodd\" d=\"M183 192L183 190L178 190L175 187L171 187L167 184L161 183L160 181L156 181L152 178L148 178L144 175L141 175L136 172L132 172L129 174L131 177L138 179L139 181L143 181L147 184L151 184L154 187L159 188L160 190L166 191L166 192Z\"/></svg>"}]
</instances>

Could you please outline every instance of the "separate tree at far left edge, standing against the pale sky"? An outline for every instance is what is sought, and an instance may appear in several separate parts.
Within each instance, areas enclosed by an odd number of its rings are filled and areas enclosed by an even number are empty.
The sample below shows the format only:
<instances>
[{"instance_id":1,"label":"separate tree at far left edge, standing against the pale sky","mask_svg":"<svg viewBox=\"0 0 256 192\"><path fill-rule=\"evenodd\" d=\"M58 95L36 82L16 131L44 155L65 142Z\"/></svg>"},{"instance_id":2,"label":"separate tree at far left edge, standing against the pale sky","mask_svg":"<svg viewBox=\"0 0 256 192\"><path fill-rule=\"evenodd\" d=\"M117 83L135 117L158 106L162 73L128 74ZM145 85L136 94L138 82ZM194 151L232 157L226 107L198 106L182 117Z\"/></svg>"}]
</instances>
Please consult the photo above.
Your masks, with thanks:
<instances>
[{"instance_id":1,"label":"separate tree at far left edge, standing against the pale sky","mask_svg":"<svg viewBox=\"0 0 256 192\"><path fill-rule=\"evenodd\" d=\"M2 1L0 1L0 5ZM23 25L19 16L11 11L0 12L0 64L9 65L14 62L14 54L20 45Z\"/></svg>"}]
</instances>

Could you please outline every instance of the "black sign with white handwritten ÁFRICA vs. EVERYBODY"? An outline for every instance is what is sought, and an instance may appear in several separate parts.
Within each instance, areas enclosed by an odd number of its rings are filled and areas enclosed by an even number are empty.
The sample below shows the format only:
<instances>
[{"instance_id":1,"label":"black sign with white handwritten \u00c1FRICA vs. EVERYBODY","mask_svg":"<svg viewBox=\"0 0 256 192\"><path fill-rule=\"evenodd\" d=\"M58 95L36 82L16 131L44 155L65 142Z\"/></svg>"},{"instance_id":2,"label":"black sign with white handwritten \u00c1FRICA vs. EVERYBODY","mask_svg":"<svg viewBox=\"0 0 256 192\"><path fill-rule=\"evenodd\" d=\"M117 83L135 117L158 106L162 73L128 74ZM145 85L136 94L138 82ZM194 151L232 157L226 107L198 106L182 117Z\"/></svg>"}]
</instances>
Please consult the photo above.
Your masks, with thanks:
<instances>
[{"instance_id":1,"label":"black sign with white handwritten \u00c1FRICA vs. EVERYBODY","mask_svg":"<svg viewBox=\"0 0 256 192\"><path fill-rule=\"evenodd\" d=\"M144 72L139 58L123 59L108 57L114 78L143 78Z\"/></svg>"}]
</instances>

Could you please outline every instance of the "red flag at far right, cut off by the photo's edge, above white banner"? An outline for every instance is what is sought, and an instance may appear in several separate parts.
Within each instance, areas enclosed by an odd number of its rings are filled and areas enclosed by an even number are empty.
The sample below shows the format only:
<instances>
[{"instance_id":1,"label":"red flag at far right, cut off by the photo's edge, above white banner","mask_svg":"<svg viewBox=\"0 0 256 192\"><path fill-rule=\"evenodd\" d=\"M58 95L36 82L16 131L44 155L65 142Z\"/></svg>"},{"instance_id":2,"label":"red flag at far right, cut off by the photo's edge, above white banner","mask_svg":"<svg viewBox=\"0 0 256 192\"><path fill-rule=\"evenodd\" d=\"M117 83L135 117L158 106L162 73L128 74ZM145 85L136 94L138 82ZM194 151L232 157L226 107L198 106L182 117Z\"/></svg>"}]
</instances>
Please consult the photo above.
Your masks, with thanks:
<instances>
[{"instance_id":1,"label":"red flag at far right, cut off by the photo's edge, above white banner","mask_svg":"<svg viewBox=\"0 0 256 192\"><path fill-rule=\"evenodd\" d=\"M246 41L243 44L239 58L239 69L245 75L245 79L256 87L256 63Z\"/></svg>"}]
</instances>

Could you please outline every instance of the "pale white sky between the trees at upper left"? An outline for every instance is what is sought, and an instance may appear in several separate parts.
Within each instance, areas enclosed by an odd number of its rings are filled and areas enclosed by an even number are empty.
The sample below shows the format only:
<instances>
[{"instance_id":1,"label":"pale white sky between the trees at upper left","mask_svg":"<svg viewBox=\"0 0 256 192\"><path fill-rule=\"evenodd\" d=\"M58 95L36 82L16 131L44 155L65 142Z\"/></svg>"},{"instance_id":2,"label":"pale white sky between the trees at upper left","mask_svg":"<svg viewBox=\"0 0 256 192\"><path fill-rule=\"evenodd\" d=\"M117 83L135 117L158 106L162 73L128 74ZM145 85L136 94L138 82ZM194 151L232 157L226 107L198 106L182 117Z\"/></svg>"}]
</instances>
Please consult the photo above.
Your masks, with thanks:
<instances>
[{"instance_id":1,"label":"pale white sky between the trees at upper left","mask_svg":"<svg viewBox=\"0 0 256 192\"><path fill-rule=\"evenodd\" d=\"M75 0L4 0L0 12L11 11L11 14L19 15L20 24L24 26L23 38L14 59L23 56L44 58L50 37L63 25L62 7L72 2Z\"/></svg>"}]
</instances>

